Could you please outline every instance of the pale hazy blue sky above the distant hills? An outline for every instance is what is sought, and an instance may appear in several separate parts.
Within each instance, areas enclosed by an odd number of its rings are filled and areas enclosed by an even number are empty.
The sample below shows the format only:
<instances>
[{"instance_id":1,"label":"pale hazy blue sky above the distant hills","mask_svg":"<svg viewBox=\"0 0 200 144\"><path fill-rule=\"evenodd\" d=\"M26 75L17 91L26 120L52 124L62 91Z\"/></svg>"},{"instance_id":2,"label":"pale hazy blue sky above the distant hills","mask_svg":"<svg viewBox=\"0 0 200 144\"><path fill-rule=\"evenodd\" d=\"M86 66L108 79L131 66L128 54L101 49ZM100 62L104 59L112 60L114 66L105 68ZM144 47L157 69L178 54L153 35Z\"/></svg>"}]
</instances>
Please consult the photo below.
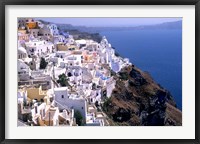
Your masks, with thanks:
<instances>
[{"instance_id":1,"label":"pale hazy blue sky above the distant hills","mask_svg":"<svg viewBox=\"0 0 200 144\"><path fill-rule=\"evenodd\" d=\"M179 21L182 18L36 18L75 26L138 26Z\"/></svg>"}]
</instances>

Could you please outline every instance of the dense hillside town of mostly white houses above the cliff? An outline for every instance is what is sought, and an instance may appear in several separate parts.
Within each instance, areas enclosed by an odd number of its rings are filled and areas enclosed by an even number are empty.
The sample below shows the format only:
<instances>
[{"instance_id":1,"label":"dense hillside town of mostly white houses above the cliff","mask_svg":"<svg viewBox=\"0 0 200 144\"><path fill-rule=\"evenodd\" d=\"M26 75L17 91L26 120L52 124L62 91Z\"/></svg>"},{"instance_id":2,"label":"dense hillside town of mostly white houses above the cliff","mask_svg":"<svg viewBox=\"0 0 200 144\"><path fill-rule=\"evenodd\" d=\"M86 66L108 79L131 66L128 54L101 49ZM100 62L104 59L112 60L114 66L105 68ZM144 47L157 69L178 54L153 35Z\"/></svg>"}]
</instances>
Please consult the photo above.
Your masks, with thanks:
<instances>
[{"instance_id":1,"label":"dense hillside town of mostly white houses above the cliff","mask_svg":"<svg viewBox=\"0 0 200 144\"><path fill-rule=\"evenodd\" d=\"M41 58L48 62L40 69ZM111 70L119 72L130 65L115 55L106 37L100 43L74 40L60 34L56 24L43 24L32 18L18 19L18 121L37 126L109 125L97 109L110 97L116 81ZM69 86L57 80L65 74Z\"/></svg>"}]
</instances>

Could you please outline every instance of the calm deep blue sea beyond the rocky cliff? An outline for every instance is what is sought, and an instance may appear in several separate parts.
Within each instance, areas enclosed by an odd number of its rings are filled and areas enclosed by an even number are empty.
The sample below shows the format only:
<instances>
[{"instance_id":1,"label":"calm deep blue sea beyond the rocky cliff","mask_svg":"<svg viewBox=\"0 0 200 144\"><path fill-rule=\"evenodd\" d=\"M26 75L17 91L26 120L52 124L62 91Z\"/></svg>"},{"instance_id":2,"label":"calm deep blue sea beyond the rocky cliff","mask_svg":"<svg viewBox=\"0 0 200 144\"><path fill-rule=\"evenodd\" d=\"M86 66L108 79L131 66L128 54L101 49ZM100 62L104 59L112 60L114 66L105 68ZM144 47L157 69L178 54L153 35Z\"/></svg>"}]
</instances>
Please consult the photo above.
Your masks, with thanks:
<instances>
[{"instance_id":1,"label":"calm deep blue sea beyond the rocky cliff","mask_svg":"<svg viewBox=\"0 0 200 144\"><path fill-rule=\"evenodd\" d=\"M101 32L121 56L173 95L182 110L182 30L131 30Z\"/></svg>"}]
</instances>

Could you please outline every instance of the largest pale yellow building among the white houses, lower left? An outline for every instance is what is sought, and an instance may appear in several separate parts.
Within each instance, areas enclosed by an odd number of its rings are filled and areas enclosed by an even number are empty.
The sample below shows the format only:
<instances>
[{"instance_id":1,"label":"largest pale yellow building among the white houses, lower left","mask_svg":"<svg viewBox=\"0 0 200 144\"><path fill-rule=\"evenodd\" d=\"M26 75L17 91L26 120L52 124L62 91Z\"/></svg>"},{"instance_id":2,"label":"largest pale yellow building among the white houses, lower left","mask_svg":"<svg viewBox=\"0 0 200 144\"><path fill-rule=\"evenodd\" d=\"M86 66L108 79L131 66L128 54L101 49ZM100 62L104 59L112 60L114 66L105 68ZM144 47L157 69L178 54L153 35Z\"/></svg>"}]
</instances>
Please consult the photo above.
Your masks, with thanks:
<instances>
[{"instance_id":1,"label":"largest pale yellow building among the white houses, lower left","mask_svg":"<svg viewBox=\"0 0 200 144\"><path fill-rule=\"evenodd\" d=\"M42 90L42 86L39 88L27 88L27 97L30 99L41 100L47 95L47 91Z\"/></svg>"}]
</instances>

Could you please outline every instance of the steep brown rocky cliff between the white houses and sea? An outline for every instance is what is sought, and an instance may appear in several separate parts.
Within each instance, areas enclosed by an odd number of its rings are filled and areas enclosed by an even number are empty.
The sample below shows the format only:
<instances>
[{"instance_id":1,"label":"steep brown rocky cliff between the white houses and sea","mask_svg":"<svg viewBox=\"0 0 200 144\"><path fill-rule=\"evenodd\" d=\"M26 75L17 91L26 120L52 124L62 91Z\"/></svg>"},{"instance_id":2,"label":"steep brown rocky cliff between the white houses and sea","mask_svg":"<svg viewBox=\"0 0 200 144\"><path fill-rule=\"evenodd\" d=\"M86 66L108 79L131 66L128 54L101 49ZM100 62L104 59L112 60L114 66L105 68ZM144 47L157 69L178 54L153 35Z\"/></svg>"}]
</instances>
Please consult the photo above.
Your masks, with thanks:
<instances>
[{"instance_id":1,"label":"steep brown rocky cliff between the white houses and sea","mask_svg":"<svg viewBox=\"0 0 200 144\"><path fill-rule=\"evenodd\" d=\"M182 125L171 94L134 66L112 73L116 88L102 104L111 125Z\"/></svg>"}]
</instances>

